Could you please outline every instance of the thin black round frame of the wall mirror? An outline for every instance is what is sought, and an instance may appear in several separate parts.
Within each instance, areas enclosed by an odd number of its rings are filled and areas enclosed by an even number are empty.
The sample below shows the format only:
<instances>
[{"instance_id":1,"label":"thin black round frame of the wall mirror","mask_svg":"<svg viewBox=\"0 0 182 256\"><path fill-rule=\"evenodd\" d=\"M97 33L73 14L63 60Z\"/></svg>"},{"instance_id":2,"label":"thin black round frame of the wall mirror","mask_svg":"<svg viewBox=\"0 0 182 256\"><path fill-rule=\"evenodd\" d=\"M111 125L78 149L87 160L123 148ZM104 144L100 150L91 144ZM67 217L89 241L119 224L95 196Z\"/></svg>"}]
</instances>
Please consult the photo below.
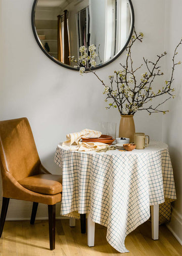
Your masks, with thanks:
<instances>
[{"instance_id":1,"label":"thin black round frame of the wall mirror","mask_svg":"<svg viewBox=\"0 0 182 256\"><path fill-rule=\"evenodd\" d=\"M35 37L35 40L36 40L38 46L44 52L45 55L47 55L51 60L56 62L58 65L60 65L60 66L62 66L64 68L70 69L70 70L78 71L79 68L73 68L73 67L71 67L71 66L69 66L67 64L64 64L63 62L59 61L55 57L51 56L47 52L47 50L44 48L44 46L41 44L41 42L40 42L40 40L38 38L38 35L37 35L36 28L35 28L35 8L36 8L36 5L37 5L37 2L38 2L38 0L34 0L34 2L33 2L32 11L31 11L31 25L32 25L33 35ZM129 41L131 39L131 36L132 36L132 33L133 33L133 28L134 28L134 10L133 10L133 6L132 6L132 3L131 3L131 0L128 0L128 2L130 4L131 16L132 16L131 31L130 31L128 40L126 41L126 43L125 43L124 47L122 48L122 50L120 52L118 52L118 54L116 54L113 58L111 58L110 60L106 61L102 65L97 66L95 68L92 68L92 70L101 69L101 68L105 67L106 65L109 65L112 61L114 61L116 58L118 58L121 55L121 53L126 49L126 46L128 45L128 43L129 43Z\"/></svg>"}]
</instances>

